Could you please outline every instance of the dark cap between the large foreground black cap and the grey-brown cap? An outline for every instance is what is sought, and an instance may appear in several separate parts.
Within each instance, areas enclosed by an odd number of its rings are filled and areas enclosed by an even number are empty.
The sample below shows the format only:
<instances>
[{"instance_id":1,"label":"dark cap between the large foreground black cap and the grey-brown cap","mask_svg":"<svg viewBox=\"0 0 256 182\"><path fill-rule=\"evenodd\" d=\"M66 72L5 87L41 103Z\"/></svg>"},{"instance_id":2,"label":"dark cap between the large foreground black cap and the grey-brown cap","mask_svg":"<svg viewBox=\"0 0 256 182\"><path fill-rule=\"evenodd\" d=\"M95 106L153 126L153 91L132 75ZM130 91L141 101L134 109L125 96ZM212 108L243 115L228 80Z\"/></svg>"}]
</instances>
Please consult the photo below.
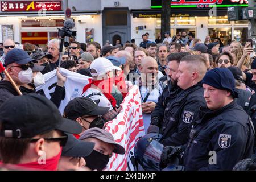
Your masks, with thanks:
<instances>
[{"instance_id":1,"label":"dark cap between the large foreground black cap and the grey-brown cap","mask_svg":"<svg viewBox=\"0 0 256 182\"><path fill-rule=\"evenodd\" d=\"M67 134L67 133L66 133ZM76 139L72 134L67 134L68 140L62 148L61 156L81 158L92 153L95 146L94 142L85 142Z\"/></svg>"}]
</instances>

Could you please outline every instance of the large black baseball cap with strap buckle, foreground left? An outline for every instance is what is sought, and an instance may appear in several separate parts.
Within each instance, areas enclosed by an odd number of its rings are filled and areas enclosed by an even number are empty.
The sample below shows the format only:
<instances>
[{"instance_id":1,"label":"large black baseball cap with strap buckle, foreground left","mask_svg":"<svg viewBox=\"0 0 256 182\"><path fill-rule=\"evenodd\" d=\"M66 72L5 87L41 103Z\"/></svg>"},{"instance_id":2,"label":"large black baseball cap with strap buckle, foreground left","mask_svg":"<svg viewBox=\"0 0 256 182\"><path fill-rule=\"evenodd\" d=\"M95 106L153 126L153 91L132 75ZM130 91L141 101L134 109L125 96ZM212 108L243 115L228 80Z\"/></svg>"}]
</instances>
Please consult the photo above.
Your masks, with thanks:
<instances>
[{"instance_id":1,"label":"large black baseball cap with strap buckle, foreground left","mask_svg":"<svg viewBox=\"0 0 256 182\"><path fill-rule=\"evenodd\" d=\"M15 96L0 106L0 135L7 138L32 138L52 130L79 134L82 127L61 117L52 101L35 93Z\"/></svg>"}]
</instances>

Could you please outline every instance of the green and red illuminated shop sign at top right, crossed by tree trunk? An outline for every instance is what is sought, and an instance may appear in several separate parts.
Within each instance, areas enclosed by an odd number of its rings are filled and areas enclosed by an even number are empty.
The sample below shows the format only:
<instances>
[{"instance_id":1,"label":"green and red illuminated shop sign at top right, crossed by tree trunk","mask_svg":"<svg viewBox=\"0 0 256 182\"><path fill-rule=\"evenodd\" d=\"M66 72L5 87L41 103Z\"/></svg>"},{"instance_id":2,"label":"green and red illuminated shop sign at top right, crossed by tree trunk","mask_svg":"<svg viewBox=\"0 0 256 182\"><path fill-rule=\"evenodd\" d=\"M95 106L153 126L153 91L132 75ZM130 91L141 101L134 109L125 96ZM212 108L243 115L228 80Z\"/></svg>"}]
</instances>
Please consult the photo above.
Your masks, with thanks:
<instances>
[{"instance_id":1,"label":"green and red illuminated shop sign at top right, crossed by tree trunk","mask_svg":"<svg viewBox=\"0 0 256 182\"><path fill-rule=\"evenodd\" d=\"M248 0L171 0L171 8L211 8L229 6L248 6ZM151 0L151 9L162 8L161 0Z\"/></svg>"}]
</instances>

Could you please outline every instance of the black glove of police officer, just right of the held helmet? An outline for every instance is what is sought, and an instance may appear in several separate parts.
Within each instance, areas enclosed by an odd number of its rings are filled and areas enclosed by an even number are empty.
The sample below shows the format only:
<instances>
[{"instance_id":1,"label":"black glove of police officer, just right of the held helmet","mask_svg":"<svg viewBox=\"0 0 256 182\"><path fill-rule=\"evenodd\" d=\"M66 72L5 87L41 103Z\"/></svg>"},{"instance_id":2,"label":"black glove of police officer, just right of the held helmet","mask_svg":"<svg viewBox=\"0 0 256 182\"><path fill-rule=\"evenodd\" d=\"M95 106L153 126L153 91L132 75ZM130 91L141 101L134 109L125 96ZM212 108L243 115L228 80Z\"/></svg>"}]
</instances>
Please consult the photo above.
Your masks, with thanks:
<instances>
[{"instance_id":1,"label":"black glove of police officer, just right of the held helmet","mask_svg":"<svg viewBox=\"0 0 256 182\"><path fill-rule=\"evenodd\" d=\"M181 158L181 152L183 152L183 147L178 146L166 146L163 149L161 155L161 166L167 166L168 164L179 165L179 160Z\"/></svg>"}]
</instances>

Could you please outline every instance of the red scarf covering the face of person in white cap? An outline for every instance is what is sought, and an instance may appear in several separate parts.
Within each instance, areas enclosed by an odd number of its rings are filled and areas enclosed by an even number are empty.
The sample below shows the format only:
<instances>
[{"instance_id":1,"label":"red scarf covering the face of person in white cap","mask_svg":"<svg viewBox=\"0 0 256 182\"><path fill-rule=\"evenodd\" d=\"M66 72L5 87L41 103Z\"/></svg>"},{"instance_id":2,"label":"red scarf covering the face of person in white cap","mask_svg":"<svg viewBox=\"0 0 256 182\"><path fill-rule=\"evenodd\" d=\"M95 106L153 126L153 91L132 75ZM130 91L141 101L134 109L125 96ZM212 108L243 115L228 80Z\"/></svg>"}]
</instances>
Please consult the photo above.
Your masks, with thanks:
<instances>
[{"instance_id":1,"label":"red scarf covering the face of person in white cap","mask_svg":"<svg viewBox=\"0 0 256 182\"><path fill-rule=\"evenodd\" d=\"M82 90L82 93L84 93L87 89L89 89L92 84L96 85L97 88L99 88L104 96L108 98L109 102L112 104L113 107L117 105L117 101L115 101L115 98L112 96L112 88L113 88L113 78L108 78L105 80L92 80L89 79L89 84L84 86L84 89Z\"/></svg>"}]
</instances>

